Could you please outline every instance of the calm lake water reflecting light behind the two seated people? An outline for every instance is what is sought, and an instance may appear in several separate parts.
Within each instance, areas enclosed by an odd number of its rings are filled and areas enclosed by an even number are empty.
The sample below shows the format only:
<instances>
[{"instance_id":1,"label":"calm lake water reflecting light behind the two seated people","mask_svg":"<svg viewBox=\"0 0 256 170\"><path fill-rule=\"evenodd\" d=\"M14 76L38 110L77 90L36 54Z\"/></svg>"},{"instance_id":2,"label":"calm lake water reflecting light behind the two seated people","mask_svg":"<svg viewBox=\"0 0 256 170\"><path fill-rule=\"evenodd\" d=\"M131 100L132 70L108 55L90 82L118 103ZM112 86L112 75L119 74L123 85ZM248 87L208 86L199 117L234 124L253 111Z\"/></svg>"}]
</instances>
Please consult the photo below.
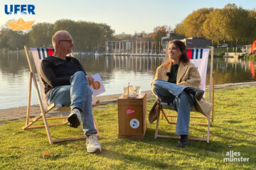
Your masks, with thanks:
<instances>
[{"instance_id":1,"label":"calm lake water reflecting light behind the two seated people","mask_svg":"<svg viewBox=\"0 0 256 170\"><path fill-rule=\"evenodd\" d=\"M156 68L164 62L164 57L124 57L102 55L75 55L87 74L99 73L106 92L122 94L128 82L142 86L142 91L150 90ZM256 62L233 58L214 58L215 84L255 81L252 70ZM208 74L210 63L208 63ZM26 106L28 99L28 62L24 53L0 53L0 109ZM209 84L207 76L206 84ZM36 91L32 86L31 104L38 104Z\"/></svg>"}]
</instances>

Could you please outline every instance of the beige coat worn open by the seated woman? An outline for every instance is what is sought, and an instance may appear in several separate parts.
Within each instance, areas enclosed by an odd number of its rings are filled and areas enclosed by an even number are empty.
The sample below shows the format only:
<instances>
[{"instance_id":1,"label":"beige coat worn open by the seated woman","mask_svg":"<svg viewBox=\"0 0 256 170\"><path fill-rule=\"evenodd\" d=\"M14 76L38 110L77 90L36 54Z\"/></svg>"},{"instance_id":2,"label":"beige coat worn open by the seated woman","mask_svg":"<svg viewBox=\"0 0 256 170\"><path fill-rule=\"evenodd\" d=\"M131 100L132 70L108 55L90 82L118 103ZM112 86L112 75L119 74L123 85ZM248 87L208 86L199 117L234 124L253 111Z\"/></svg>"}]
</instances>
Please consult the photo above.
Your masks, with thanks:
<instances>
[{"instance_id":1,"label":"beige coat worn open by the seated woman","mask_svg":"<svg viewBox=\"0 0 256 170\"><path fill-rule=\"evenodd\" d=\"M166 76L166 73L170 71L171 71L171 63L167 67L164 67L163 64L157 67L156 76L151 81L151 90L152 90L152 83L154 80L161 79L164 81L168 81L169 77ZM196 89L199 89L200 83L201 83L201 77L195 65L191 62L188 62L188 63L181 62L180 66L178 67L176 84L181 86L191 86ZM153 94L154 94L154 91L153 91ZM212 104L208 103L205 100L205 98L202 98L201 101L196 100L196 109L198 112L202 113L203 115L210 116L211 108L212 108Z\"/></svg>"}]
</instances>

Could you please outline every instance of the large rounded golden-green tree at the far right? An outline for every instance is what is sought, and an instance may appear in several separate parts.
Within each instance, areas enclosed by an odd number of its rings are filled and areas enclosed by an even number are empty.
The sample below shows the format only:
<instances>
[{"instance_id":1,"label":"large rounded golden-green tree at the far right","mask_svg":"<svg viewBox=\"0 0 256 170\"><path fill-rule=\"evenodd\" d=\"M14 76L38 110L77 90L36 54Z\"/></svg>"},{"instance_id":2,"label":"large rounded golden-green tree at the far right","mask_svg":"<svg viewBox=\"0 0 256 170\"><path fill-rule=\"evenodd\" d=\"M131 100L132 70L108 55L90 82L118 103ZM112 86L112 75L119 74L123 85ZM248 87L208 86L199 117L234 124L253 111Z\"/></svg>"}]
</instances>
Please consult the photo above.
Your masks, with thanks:
<instances>
[{"instance_id":1,"label":"large rounded golden-green tree at the far right","mask_svg":"<svg viewBox=\"0 0 256 170\"><path fill-rule=\"evenodd\" d=\"M206 15L203 23L203 36L215 42L245 42L255 28L249 11L227 4L222 9L215 9Z\"/></svg>"}]
</instances>

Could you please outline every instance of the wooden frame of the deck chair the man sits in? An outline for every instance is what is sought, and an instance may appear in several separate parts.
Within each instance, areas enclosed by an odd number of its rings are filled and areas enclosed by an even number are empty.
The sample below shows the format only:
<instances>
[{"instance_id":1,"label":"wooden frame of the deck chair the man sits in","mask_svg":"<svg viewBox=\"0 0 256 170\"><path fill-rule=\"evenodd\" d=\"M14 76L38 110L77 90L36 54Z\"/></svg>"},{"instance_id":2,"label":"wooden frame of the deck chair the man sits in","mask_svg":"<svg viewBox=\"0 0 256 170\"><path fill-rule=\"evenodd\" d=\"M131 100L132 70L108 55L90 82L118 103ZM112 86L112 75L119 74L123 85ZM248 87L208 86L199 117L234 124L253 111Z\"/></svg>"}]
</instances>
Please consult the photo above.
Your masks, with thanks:
<instances>
[{"instance_id":1,"label":"wooden frame of the deck chair the man sits in","mask_svg":"<svg viewBox=\"0 0 256 170\"><path fill-rule=\"evenodd\" d=\"M40 91L38 89L38 84L36 82L36 70L33 68L32 63L34 63L34 59L33 56L31 56L31 48L26 47L26 45L24 46L25 52L26 52L26 57L28 60L28 66L30 69L29 72L29 82L28 82L28 103L27 103L27 112L26 112L26 124L22 127L23 130L26 129L31 129L31 128L46 128L46 134L48 137L48 141L50 142L50 144L56 143L56 142L65 142L65 141L70 141L70 140L82 140L82 139L86 139L86 136L80 136L80 137L69 137L69 138L64 138L64 139L57 139L57 140L53 140L51 135L50 135L50 130L49 127L50 126L55 126L55 125L65 125L66 123L68 123L67 120L63 121L63 123L54 123L54 124L48 124L47 120L55 120L55 119L67 119L68 116L60 116L60 117L54 117L54 118L46 118L46 113L48 113L49 111L51 111L53 108L55 107L60 107L60 109L58 111L65 111L66 109L70 110L70 107L61 107L61 106L56 106L55 103L50 104L50 106L47 105L46 103L46 98L43 98L43 92L42 94L40 94ZM71 53L71 56L73 57L73 53ZM33 60L32 60L33 59ZM36 63L34 63L36 64ZM38 74L38 78L39 81L41 81L41 77L40 74ZM39 113L38 115L36 115L35 118L30 119L30 111L31 111L31 88L32 88L32 81L33 84L35 86L36 89L36 94L37 94L37 98L38 98L38 102L39 102L39 106L40 106L40 110L41 113ZM42 89L41 89L42 91ZM100 102L97 101L95 103L92 103L92 106L97 106L97 104L99 104ZM33 125L33 123L36 123L36 121L42 121L44 125L36 125L36 126L31 126ZM97 128L97 124L96 124L96 120L95 117L93 115L93 120L94 120L94 125L95 128L97 130L97 136L100 137L100 131Z\"/></svg>"}]
</instances>

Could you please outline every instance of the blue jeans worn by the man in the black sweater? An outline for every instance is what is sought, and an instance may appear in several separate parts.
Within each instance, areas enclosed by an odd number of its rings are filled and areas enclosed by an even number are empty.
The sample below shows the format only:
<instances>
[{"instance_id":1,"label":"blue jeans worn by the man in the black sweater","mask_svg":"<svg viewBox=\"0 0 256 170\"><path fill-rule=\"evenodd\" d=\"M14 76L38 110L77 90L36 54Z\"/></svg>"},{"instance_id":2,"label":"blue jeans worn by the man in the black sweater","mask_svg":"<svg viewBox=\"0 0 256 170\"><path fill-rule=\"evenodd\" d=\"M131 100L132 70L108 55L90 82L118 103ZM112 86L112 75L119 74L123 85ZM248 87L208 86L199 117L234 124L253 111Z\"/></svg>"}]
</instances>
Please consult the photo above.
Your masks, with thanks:
<instances>
[{"instance_id":1,"label":"blue jeans worn by the man in the black sweater","mask_svg":"<svg viewBox=\"0 0 256 170\"><path fill-rule=\"evenodd\" d=\"M84 72L76 72L70 77L70 85L56 86L46 97L47 103L61 106L80 108L82 130L86 136L97 133L92 117L92 91L88 85Z\"/></svg>"}]
</instances>

